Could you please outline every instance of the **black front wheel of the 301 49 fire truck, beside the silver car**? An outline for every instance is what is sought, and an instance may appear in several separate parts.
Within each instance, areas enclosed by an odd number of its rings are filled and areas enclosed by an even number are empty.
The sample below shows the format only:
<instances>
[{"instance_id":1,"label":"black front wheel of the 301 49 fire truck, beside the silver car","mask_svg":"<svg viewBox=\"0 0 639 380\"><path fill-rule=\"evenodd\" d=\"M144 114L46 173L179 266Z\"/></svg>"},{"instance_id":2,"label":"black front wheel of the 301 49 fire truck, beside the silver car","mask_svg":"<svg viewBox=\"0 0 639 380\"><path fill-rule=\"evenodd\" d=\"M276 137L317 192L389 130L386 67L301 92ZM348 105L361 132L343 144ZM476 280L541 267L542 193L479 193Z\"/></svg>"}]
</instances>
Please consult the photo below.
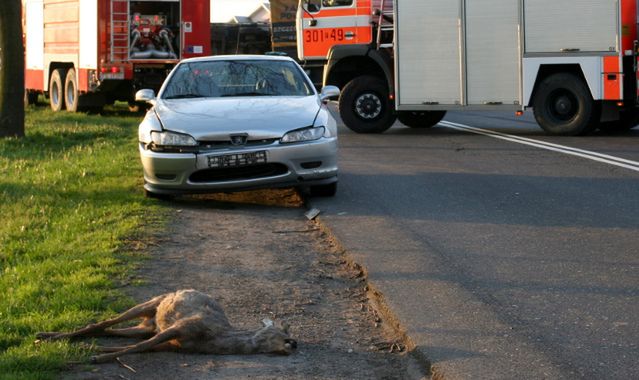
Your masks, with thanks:
<instances>
[{"instance_id":1,"label":"black front wheel of the 301 49 fire truck, beside the silver car","mask_svg":"<svg viewBox=\"0 0 639 380\"><path fill-rule=\"evenodd\" d=\"M344 124L357 133L382 133L396 118L386 82L369 75L357 77L344 86L339 114Z\"/></svg>"}]
</instances>

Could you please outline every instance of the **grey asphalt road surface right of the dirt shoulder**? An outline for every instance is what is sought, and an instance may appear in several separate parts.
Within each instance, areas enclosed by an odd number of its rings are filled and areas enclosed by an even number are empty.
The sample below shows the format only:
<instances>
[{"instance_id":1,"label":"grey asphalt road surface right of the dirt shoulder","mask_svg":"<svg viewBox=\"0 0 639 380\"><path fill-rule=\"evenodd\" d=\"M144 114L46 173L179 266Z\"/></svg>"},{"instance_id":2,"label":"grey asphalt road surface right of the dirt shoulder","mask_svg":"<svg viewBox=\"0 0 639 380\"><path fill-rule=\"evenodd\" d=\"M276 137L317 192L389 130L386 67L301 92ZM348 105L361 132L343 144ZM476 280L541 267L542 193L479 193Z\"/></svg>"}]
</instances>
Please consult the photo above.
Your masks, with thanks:
<instances>
[{"instance_id":1,"label":"grey asphalt road surface right of the dirt shoulder","mask_svg":"<svg viewBox=\"0 0 639 380\"><path fill-rule=\"evenodd\" d=\"M342 127L338 194L312 203L416 352L445 378L639 378L639 128L445 120L458 124Z\"/></svg>"}]
</instances>

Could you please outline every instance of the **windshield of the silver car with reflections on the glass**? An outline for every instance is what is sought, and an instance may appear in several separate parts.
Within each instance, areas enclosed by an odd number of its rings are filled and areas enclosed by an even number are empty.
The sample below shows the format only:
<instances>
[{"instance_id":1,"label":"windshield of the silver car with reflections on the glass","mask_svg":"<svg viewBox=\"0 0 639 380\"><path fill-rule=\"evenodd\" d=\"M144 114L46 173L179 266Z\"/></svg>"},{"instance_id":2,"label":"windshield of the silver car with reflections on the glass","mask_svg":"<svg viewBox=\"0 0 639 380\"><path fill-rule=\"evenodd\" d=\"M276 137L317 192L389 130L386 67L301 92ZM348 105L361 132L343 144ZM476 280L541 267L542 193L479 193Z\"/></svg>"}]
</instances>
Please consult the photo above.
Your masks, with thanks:
<instances>
[{"instance_id":1,"label":"windshield of the silver car with reflections on the glass","mask_svg":"<svg viewBox=\"0 0 639 380\"><path fill-rule=\"evenodd\" d=\"M198 61L179 65L163 99L231 96L309 96L314 91L293 62L276 60Z\"/></svg>"}]
</instances>

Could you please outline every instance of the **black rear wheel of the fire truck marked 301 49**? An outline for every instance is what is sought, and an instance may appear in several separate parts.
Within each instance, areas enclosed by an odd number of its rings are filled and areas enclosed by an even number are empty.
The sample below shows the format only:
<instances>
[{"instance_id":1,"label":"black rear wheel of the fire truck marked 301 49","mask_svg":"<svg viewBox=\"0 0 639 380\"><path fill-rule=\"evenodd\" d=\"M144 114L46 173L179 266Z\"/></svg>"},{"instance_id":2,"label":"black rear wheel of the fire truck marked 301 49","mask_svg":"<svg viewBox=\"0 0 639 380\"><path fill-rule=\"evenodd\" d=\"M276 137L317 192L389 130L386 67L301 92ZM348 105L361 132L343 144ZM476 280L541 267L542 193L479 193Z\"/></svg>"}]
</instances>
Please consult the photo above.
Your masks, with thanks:
<instances>
[{"instance_id":1,"label":"black rear wheel of the fire truck marked 301 49","mask_svg":"<svg viewBox=\"0 0 639 380\"><path fill-rule=\"evenodd\" d=\"M574 74L553 74L544 79L533 99L535 119L546 133L579 136L597 128L600 105L588 86Z\"/></svg>"}]
</instances>

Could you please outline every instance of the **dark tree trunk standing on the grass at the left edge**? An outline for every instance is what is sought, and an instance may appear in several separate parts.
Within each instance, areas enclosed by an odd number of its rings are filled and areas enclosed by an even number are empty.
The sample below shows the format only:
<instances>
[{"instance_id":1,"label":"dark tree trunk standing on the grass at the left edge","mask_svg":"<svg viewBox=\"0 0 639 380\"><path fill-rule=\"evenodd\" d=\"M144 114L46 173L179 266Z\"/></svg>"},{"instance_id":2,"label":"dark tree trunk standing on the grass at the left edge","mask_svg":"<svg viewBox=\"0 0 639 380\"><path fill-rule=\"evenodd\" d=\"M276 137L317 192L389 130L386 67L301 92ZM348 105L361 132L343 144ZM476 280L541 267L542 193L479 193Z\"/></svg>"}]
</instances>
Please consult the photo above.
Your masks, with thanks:
<instances>
[{"instance_id":1,"label":"dark tree trunk standing on the grass at the left edge","mask_svg":"<svg viewBox=\"0 0 639 380\"><path fill-rule=\"evenodd\" d=\"M24 136L21 0L0 0L0 138L8 136Z\"/></svg>"}]
</instances>

